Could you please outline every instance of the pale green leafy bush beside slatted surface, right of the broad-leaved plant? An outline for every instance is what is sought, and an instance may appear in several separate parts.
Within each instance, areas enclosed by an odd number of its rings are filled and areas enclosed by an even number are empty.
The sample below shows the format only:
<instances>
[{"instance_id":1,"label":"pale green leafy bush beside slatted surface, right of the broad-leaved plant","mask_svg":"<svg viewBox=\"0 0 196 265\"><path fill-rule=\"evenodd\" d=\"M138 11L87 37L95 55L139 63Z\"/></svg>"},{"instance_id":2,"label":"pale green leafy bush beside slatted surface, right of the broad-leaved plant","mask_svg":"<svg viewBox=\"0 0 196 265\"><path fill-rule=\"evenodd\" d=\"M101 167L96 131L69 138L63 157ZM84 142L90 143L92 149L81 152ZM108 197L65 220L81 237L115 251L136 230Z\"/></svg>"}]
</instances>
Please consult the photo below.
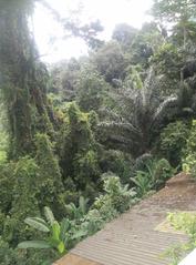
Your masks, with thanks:
<instances>
[{"instance_id":1,"label":"pale green leafy bush beside slatted surface, right of the broad-leaved plant","mask_svg":"<svg viewBox=\"0 0 196 265\"><path fill-rule=\"evenodd\" d=\"M73 247L81 238L101 230L106 222L135 203L135 193L128 190L127 185L123 186L118 176L104 174L103 182L105 194L96 197L89 212L87 200L83 197L80 198L78 207L73 203L66 205L66 212L70 212L71 220L66 218L69 227L64 237L69 248Z\"/></svg>"}]
</instances>

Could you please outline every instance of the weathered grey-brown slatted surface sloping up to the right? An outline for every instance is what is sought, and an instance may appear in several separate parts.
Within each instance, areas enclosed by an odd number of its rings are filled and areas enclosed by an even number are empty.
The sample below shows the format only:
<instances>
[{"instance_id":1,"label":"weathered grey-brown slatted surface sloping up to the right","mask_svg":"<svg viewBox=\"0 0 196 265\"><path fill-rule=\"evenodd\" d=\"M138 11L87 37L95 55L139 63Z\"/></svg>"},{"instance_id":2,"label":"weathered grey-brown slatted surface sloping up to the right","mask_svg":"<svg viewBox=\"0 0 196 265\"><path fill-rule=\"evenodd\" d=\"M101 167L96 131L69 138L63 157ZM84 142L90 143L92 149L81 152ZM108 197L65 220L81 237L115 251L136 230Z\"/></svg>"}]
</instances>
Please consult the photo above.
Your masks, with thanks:
<instances>
[{"instance_id":1,"label":"weathered grey-brown slatted surface sloping up to the right","mask_svg":"<svg viewBox=\"0 0 196 265\"><path fill-rule=\"evenodd\" d=\"M166 221L175 211L196 211L196 182L184 173L79 243L55 265L167 265L163 253L187 239Z\"/></svg>"}]
</instances>

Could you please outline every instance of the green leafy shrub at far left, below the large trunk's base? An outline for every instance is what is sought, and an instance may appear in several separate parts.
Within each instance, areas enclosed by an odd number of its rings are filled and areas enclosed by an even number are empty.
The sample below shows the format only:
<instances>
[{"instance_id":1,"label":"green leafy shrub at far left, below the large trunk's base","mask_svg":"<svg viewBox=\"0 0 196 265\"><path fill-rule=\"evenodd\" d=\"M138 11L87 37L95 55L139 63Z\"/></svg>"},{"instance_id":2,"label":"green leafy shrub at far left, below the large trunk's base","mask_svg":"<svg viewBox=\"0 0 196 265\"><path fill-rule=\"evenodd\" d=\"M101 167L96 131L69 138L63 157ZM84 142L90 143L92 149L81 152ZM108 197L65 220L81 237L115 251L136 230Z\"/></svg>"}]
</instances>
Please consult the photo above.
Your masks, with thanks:
<instances>
[{"instance_id":1,"label":"green leafy shrub at far left, below the large trunk's base","mask_svg":"<svg viewBox=\"0 0 196 265\"><path fill-rule=\"evenodd\" d=\"M40 214L37 201L38 165L34 160L24 156L14 163L12 181L12 202L10 211L4 212L7 217L2 235L4 241L16 246L18 241L32 234L30 230L25 230L21 221L27 215Z\"/></svg>"}]
</instances>

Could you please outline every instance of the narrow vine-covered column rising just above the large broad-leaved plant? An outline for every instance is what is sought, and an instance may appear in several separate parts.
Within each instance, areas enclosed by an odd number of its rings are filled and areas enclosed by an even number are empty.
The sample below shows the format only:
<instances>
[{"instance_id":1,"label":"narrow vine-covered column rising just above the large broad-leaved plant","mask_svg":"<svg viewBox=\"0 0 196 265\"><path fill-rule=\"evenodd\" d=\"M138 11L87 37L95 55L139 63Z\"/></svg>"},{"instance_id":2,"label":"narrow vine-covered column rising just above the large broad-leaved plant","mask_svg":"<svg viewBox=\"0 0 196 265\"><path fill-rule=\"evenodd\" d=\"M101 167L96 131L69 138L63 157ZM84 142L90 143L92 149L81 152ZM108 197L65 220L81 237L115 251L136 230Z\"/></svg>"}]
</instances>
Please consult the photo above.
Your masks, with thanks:
<instances>
[{"instance_id":1,"label":"narrow vine-covered column rising just above the large broad-leaved plant","mask_svg":"<svg viewBox=\"0 0 196 265\"><path fill-rule=\"evenodd\" d=\"M35 162L39 166L39 177L37 179L39 207L43 208L48 205L56 216L62 217L64 186L59 162L45 134L37 134L35 146Z\"/></svg>"}]
</instances>

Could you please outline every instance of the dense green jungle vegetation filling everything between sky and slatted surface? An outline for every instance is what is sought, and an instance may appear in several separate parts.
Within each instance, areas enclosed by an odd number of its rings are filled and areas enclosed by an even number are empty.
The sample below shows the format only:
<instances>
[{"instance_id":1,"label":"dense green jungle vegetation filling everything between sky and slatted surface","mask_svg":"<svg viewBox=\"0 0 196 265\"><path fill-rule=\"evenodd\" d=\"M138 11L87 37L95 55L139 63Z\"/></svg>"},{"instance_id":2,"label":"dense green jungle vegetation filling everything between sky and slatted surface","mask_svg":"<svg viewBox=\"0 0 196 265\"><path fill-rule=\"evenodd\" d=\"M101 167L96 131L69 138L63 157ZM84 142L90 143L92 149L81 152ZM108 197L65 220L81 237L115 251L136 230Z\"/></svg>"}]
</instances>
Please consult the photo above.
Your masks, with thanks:
<instances>
[{"instance_id":1,"label":"dense green jungle vegetation filling everything between sky and slatted surface","mask_svg":"<svg viewBox=\"0 0 196 265\"><path fill-rule=\"evenodd\" d=\"M99 21L48 6L91 51L47 69L34 2L0 1L2 265L51 264L176 170L196 175L196 4L155 0L153 22L118 24L106 42Z\"/></svg>"}]
</instances>

